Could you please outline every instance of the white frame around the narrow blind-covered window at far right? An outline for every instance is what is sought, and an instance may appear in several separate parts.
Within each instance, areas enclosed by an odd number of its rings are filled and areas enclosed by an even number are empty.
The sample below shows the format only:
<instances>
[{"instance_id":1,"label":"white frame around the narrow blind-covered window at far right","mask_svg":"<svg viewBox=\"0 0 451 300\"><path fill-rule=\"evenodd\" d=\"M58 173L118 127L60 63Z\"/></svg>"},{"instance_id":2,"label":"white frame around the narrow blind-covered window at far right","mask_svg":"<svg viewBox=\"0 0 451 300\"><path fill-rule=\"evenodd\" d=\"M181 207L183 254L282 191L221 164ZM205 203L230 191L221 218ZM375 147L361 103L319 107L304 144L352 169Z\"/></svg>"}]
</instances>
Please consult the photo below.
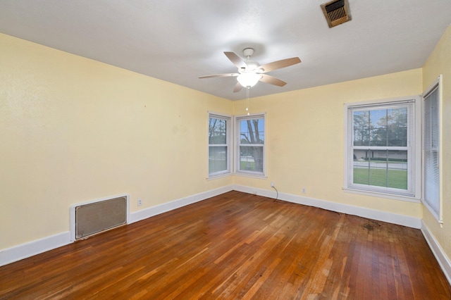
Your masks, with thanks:
<instances>
[{"instance_id":1,"label":"white frame around the narrow blind-covered window at far right","mask_svg":"<svg viewBox=\"0 0 451 300\"><path fill-rule=\"evenodd\" d=\"M438 199L433 199L433 201L438 201L438 211L435 211L434 208L430 204L428 204L428 199L426 199L426 157L425 157L425 145L423 141L421 150L422 150L422 161L423 161L423 194L421 197L421 202L426 206L429 212L435 217L435 219L438 221L438 223L443 224L443 193L442 187L443 187L443 168L441 168L441 161L443 161L443 151L442 151L442 120L443 120L443 91L442 91L442 75L439 75L437 80L435 80L423 93L422 95L422 104L423 104L423 128L426 130L425 125L425 114L426 114L426 98L437 89L438 92L438 132L437 132L437 139L438 139L438 146L436 151L438 151L438 182L434 182L434 184L438 184ZM426 132L424 132L424 139L426 139Z\"/></svg>"}]
</instances>

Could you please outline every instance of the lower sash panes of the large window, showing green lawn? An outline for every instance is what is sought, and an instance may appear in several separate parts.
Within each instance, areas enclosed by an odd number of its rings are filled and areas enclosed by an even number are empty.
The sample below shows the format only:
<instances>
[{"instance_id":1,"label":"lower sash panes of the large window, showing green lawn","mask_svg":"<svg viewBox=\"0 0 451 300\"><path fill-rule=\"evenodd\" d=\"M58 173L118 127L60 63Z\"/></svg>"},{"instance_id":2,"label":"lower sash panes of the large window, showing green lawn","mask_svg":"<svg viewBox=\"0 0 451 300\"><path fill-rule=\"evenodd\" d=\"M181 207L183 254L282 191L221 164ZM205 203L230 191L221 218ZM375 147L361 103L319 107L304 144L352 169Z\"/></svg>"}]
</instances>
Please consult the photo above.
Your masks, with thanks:
<instances>
[{"instance_id":1,"label":"lower sash panes of the large window, showing green lawn","mask_svg":"<svg viewBox=\"0 0 451 300\"><path fill-rule=\"evenodd\" d=\"M354 149L354 182L407 190L407 151Z\"/></svg>"}]
</instances>

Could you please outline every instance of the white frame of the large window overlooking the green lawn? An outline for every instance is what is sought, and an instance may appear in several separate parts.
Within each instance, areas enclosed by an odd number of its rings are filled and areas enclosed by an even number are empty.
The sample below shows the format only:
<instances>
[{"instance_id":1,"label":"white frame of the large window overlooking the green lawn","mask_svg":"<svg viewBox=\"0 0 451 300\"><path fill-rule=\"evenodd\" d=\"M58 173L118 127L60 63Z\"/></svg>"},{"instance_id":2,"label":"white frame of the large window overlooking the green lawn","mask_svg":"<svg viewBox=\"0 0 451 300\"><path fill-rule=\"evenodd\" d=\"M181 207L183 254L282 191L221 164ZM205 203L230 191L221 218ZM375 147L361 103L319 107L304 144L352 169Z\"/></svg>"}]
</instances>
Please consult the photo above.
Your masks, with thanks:
<instances>
[{"instance_id":1,"label":"white frame of the large window overlooking the green lawn","mask_svg":"<svg viewBox=\"0 0 451 300\"><path fill-rule=\"evenodd\" d=\"M388 106L393 104L402 104L407 102L414 102L414 118L411 124L411 137L413 141L408 141L407 147L402 150L407 150L408 163L408 182L407 190L393 189L389 187L376 187L369 185L358 185L353 183L353 168L354 168L354 145L352 137L352 112L358 108L375 108L377 106ZM412 201L419 203L421 199L421 101L419 96L407 96L395 99L383 99L377 101L362 101L354 102L344 105L344 187L345 192L355 194L364 194L369 196L378 196L388 199L396 199L402 201ZM413 127L413 128L412 128Z\"/></svg>"}]
</instances>

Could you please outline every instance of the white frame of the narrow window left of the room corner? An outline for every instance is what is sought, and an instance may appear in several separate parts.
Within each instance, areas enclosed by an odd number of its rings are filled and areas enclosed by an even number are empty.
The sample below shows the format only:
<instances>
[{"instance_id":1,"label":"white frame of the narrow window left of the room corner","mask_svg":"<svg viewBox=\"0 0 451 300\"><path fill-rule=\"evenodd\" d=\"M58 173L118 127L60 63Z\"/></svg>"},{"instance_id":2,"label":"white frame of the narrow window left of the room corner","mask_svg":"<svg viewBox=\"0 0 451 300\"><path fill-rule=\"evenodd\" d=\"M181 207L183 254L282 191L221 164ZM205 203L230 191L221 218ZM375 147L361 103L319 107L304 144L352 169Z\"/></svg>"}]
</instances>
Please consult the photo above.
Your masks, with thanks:
<instances>
[{"instance_id":1,"label":"white frame of the narrow window left of the room corner","mask_svg":"<svg viewBox=\"0 0 451 300\"><path fill-rule=\"evenodd\" d=\"M219 120L226 120L226 144L210 144L209 142L209 130L210 130L210 118L216 118ZM206 144L207 144L207 179L213 179L218 177L223 177L226 175L230 175L232 173L232 165L233 165L233 145L232 145L232 136L233 136L233 118L231 115L224 115L221 113L213 113L208 112L207 120L207 135L206 135ZM218 172L210 173L210 147L211 146L226 146L227 147L227 169L221 170Z\"/></svg>"}]
</instances>

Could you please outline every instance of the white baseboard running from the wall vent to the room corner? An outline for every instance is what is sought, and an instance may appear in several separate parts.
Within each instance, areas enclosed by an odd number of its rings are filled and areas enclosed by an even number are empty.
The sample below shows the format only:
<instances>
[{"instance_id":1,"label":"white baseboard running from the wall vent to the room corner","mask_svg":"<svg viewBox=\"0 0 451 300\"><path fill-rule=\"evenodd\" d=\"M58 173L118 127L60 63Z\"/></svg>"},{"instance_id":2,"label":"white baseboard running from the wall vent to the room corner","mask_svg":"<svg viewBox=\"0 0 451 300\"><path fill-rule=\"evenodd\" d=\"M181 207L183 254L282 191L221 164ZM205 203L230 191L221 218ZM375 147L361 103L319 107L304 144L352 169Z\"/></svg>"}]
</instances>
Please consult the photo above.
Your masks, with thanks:
<instances>
[{"instance_id":1,"label":"white baseboard running from the wall vent to the room corner","mask_svg":"<svg viewBox=\"0 0 451 300\"><path fill-rule=\"evenodd\" d=\"M171 202L167 202L165 204L160 204L157 206L145 208L141 211L136 211L135 213L130 213L130 221L129 223L135 223L140 220L144 220L154 215L159 215L160 213L166 213L167 211L172 211L175 208L180 208L183 206L187 206L189 204L193 204L214 196L218 196L220 194L224 194L226 192L230 192L233 190L232 185L228 185L226 187L220 187L218 189L211 189L210 191L203 192L200 194L195 194L192 196L187 196L182 199L177 199Z\"/></svg>"}]
</instances>

